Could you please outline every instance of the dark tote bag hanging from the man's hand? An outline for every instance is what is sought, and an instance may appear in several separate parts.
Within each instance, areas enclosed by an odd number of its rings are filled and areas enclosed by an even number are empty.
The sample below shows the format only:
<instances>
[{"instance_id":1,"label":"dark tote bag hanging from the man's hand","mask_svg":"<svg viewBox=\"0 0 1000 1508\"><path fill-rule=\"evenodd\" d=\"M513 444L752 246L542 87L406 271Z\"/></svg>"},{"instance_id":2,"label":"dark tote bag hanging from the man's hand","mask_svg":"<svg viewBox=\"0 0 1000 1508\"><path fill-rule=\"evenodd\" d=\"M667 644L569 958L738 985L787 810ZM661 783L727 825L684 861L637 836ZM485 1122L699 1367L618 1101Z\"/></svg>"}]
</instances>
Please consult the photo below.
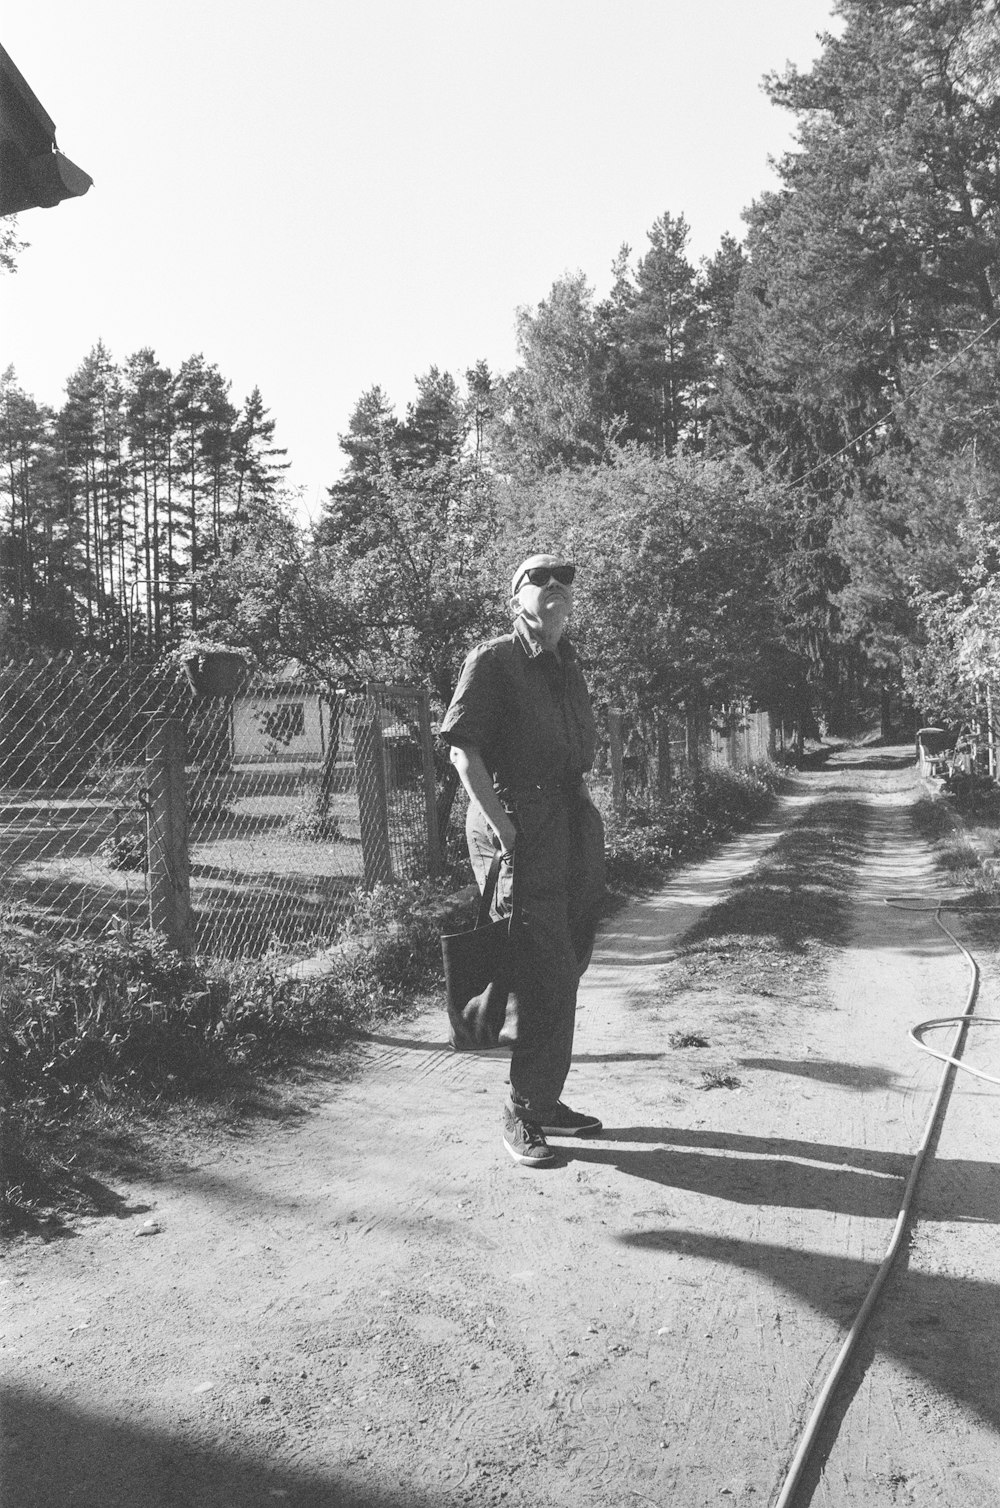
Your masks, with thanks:
<instances>
[{"instance_id":1,"label":"dark tote bag hanging from the man's hand","mask_svg":"<svg viewBox=\"0 0 1000 1508\"><path fill-rule=\"evenodd\" d=\"M517 885L511 875L510 917L490 921L502 858L495 855L480 897L480 912L471 932L445 933L440 953L445 962L449 1041L456 1051L513 1044L516 1025L508 1019L514 953L520 933Z\"/></svg>"}]
</instances>

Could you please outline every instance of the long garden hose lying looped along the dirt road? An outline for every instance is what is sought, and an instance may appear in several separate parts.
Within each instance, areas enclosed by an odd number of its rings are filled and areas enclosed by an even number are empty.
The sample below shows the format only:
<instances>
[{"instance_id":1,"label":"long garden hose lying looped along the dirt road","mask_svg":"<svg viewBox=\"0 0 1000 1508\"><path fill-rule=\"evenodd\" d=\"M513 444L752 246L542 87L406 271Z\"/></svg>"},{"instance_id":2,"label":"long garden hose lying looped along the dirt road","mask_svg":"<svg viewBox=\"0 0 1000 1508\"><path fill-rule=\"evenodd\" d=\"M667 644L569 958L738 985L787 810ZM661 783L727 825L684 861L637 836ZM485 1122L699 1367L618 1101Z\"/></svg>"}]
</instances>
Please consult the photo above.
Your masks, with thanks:
<instances>
[{"instance_id":1,"label":"long garden hose lying looped along the dirt road","mask_svg":"<svg viewBox=\"0 0 1000 1508\"><path fill-rule=\"evenodd\" d=\"M910 905L908 902L914 902L914 903ZM872 1310L875 1309L878 1297L879 1297L882 1288L885 1286L885 1279L888 1277L888 1274L890 1274L890 1271L893 1268L893 1264L894 1264L894 1261L896 1261L896 1258L897 1258L897 1255L900 1252L900 1247L903 1244L903 1237L905 1237L906 1228L910 1224L910 1214L911 1214L911 1209L913 1209L914 1196L917 1193L917 1184L920 1182L920 1173L923 1172L923 1163L925 1163L925 1158L928 1155L928 1149L929 1149L931 1143L934 1142L935 1133L938 1129L938 1120L941 1119L941 1113L943 1113L943 1108L944 1108L944 1101L947 1098L947 1092L950 1089L952 1078L955 1075L955 1069L959 1068L959 1069L962 1069L962 1071L965 1071L968 1074L974 1074L977 1078L985 1078L991 1084L1000 1084L1000 1078L995 1078L992 1074L983 1074L982 1069L971 1068L970 1065L967 1065L967 1063L964 1063L961 1060L961 1051L962 1051L962 1047L965 1044L965 1034L968 1031L970 1021L973 1021L973 1013L974 1013L974 1009L976 1009L976 997L979 994L979 967L976 964L976 959L968 952L968 949L964 947L958 941L958 938L955 936L955 933L950 932L944 926L944 923L941 921L941 911L994 911L994 912L1000 914L1000 908L997 908L997 906L959 906L959 905L949 906L947 902L938 902L934 906L928 906L928 905L920 905L919 902L920 902L919 896L887 896L885 897L885 903L890 905L890 906L894 906L899 911L925 911L925 912L932 912L934 914L934 920L937 921L937 924L940 926L940 929L944 932L944 935L947 938L950 938L950 941L959 950L959 953L965 959L965 964L967 964L967 968L968 968L968 974L970 974L968 994L965 997L965 1010L959 1016L937 1016L934 1021L922 1021L919 1025L913 1027L913 1030L910 1031L911 1041L916 1042L916 1045L919 1048L922 1048L925 1053L929 1053L932 1057L941 1059L941 1062L944 1063L944 1072L941 1074L941 1081L938 1083L938 1089L937 1089L937 1093L934 1096L934 1104L931 1105L931 1113L929 1113L926 1125L923 1128L923 1136L920 1137L920 1145L917 1148L917 1154L914 1157L913 1167L910 1169L910 1178L906 1179L906 1187L903 1190L902 1205L899 1208L899 1214L896 1215L896 1224L893 1228L893 1235L891 1235L891 1240L888 1243L888 1249L887 1249L885 1256L882 1258L882 1262L881 1262L881 1265L879 1265L879 1268L878 1268L878 1271L875 1274L875 1279L872 1280L872 1286L869 1288L869 1291L867 1291L867 1294L864 1297L864 1303L861 1304L861 1307L858 1310L858 1315L857 1315L854 1324L851 1326L851 1332L849 1332L846 1341L843 1342L843 1345L840 1347L840 1351L837 1353L837 1357L836 1357L836 1360L834 1360L830 1372L827 1374L827 1380L825 1380L825 1383L824 1383L824 1386L822 1386L822 1389L819 1392L819 1398L816 1399L816 1404L813 1405L813 1411L808 1416L805 1428L802 1430L802 1434L799 1437L799 1443L798 1443L798 1446L795 1449L795 1455L792 1457L792 1463L790 1463L790 1466L787 1469L787 1473L786 1473L786 1476L784 1476L784 1479L781 1482L781 1488L778 1491L778 1496L774 1500L774 1508L790 1508L790 1505L792 1505L792 1502L795 1499L795 1493L796 1493L799 1481L802 1478L802 1470L805 1467L805 1463L808 1461L808 1457L810 1457L810 1454L813 1451L813 1446L816 1445L816 1439L819 1436L819 1430L822 1427L822 1422L827 1418L827 1410L830 1407L830 1401L831 1401L834 1392L837 1390L837 1384L840 1383L840 1378L845 1374L848 1362L851 1360L851 1356L854 1354L854 1350L855 1350L855 1347L857 1347L857 1344L858 1344L858 1341L861 1338L861 1333L864 1332L864 1327L866 1327L866 1324L867 1324L867 1321L869 1321L869 1318L872 1315ZM974 1021L976 1021L976 1025L986 1025L986 1024L995 1025L995 1024L1000 1024L1000 1016L974 1016ZM934 1027L952 1025L952 1024L955 1024L958 1027L958 1030L955 1031L955 1039L952 1042L952 1051L950 1053L940 1053L935 1048L928 1047L922 1041L925 1031L931 1031Z\"/></svg>"}]
</instances>

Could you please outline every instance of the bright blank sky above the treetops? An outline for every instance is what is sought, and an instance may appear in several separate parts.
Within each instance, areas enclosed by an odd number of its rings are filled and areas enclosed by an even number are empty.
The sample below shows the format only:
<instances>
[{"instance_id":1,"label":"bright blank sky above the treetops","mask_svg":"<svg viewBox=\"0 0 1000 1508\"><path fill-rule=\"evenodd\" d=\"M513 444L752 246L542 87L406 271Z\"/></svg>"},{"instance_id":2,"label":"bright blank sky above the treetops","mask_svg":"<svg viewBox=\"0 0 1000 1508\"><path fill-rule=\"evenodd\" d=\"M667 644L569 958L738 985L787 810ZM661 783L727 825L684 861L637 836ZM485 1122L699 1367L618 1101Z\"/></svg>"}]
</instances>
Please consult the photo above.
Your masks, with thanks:
<instances>
[{"instance_id":1,"label":"bright blank sky above the treetops","mask_svg":"<svg viewBox=\"0 0 1000 1508\"><path fill-rule=\"evenodd\" d=\"M256 385L315 511L380 383L514 365L514 311L664 211L710 255L774 184L833 0L47 0L0 42L90 173L21 216L0 366L59 404L97 339Z\"/></svg>"}]
</instances>

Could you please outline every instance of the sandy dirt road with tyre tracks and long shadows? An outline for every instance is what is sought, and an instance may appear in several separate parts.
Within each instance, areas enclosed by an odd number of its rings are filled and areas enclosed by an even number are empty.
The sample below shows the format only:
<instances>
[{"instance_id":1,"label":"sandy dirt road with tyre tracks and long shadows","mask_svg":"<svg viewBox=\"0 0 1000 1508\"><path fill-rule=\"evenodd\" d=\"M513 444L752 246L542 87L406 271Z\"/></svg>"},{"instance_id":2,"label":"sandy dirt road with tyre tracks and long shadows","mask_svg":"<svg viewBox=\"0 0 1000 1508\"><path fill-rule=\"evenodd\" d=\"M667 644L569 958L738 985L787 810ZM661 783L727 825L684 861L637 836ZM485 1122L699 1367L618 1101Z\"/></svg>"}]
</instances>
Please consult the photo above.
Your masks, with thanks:
<instances>
[{"instance_id":1,"label":"sandy dirt road with tyre tracks and long shadows","mask_svg":"<svg viewBox=\"0 0 1000 1508\"><path fill-rule=\"evenodd\" d=\"M965 998L932 918L885 905L938 893L902 760L802 775L772 823L614 918L567 1086L605 1131L552 1170L501 1146L502 1057L449 1053L427 1016L318 1078L297 1122L14 1247L8 1508L772 1502L937 1089L906 1030ZM665 995L683 929L836 790L869 828L825 977L792 1007L766 980L753 1010ZM979 1009L1000 1015L995 970ZM695 1028L706 1048L670 1045ZM997 1036L970 1053L1000 1072ZM801 1505L997 1502L998 1095L955 1086Z\"/></svg>"}]
</instances>

